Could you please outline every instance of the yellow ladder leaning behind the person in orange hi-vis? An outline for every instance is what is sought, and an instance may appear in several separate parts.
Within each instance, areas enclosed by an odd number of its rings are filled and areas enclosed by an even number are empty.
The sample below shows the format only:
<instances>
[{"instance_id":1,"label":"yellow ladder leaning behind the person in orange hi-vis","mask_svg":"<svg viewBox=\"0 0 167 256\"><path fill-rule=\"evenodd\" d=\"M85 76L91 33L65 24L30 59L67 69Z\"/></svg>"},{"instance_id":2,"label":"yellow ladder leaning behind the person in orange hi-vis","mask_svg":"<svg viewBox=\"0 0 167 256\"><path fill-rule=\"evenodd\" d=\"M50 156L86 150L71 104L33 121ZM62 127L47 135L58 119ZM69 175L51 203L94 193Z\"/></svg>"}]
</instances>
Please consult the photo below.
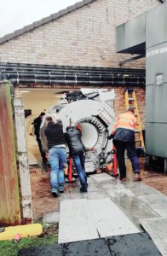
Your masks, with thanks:
<instances>
[{"instance_id":1,"label":"yellow ladder leaning behind the person in orange hi-vis","mask_svg":"<svg viewBox=\"0 0 167 256\"><path fill-rule=\"evenodd\" d=\"M141 148L145 152L145 144L144 144L142 130L141 130L141 119L139 116L139 110L138 110L137 101L135 97L135 90L134 89L125 90L124 96L125 96L126 109L133 108L135 117L137 119L137 126L135 129L135 148Z\"/></svg>"}]
</instances>

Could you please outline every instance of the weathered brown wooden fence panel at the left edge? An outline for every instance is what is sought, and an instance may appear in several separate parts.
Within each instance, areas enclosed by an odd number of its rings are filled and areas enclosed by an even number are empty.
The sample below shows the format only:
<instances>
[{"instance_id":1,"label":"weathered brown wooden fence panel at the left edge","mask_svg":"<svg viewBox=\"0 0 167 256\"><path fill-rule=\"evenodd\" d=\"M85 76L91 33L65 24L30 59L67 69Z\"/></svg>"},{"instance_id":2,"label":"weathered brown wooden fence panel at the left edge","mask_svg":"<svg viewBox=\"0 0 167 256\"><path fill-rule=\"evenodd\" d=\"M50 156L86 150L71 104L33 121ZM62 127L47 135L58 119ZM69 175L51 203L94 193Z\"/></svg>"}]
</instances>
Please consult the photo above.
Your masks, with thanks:
<instances>
[{"instance_id":1,"label":"weathered brown wooden fence panel at the left edge","mask_svg":"<svg viewBox=\"0 0 167 256\"><path fill-rule=\"evenodd\" d=\"M20 222L20 196L15 156L10 84L0 82L0 223Z\"/></svg>"}]
</instances>

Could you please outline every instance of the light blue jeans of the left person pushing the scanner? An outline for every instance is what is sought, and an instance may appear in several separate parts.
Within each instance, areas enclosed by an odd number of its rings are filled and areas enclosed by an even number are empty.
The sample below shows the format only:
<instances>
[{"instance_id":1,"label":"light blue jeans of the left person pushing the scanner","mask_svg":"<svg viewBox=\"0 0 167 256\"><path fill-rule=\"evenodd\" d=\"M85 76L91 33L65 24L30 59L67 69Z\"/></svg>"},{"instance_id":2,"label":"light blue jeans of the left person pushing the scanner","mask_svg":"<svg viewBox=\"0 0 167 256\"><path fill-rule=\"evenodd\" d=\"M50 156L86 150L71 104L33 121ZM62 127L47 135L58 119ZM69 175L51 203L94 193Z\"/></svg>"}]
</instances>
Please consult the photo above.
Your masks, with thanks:
<instances>
[{"instance_id":1,"label":"light blue jeans of the left person pushing the scanner","mask_svg":"<svg viewBox=\"0 0 167 256\"><path fill-rule=\"evenodd\" d=\"M51 166L50 183L51 187L63 188L65 183L64 166L66 162L66 148L50 148L49 164Z\"/></svg>"}]
</instances>

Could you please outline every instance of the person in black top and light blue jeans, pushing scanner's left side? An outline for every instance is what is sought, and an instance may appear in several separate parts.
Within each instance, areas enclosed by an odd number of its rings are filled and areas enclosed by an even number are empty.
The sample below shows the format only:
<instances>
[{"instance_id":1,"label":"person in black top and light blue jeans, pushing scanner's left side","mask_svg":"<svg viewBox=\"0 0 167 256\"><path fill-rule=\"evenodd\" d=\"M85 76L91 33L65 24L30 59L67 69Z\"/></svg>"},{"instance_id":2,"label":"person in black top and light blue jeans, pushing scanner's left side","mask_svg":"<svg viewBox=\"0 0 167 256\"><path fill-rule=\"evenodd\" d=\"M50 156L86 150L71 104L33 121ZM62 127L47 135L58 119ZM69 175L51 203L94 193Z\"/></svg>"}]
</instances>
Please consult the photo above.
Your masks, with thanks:
<instances>
[{"instance_id":1,"label":"person in black top and light blue jeans, pushing scanner's left side","mask_svg":"<svg viewBox=\"0 0 167 256\"><path fill-rule=\"evenodd\" d=\"M50 183L52 195L58 196L64 191L64 166L66 163L66 141L60 121L46 117L47 128L44 133L48 140L49 164L51 166Z\"/></svg>"}]
</instances>

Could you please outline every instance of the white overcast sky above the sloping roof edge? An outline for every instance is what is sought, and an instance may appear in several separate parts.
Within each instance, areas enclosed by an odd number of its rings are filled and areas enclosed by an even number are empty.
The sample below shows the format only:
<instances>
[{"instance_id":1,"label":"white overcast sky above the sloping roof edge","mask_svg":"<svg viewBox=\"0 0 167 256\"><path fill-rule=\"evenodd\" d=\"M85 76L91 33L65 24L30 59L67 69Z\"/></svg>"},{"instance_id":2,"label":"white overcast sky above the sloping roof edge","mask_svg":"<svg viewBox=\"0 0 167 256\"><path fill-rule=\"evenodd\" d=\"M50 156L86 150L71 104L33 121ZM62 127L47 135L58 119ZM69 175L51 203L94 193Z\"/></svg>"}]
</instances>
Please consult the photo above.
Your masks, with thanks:
<instances>
[{"instance_id":1,"label":"white overcast sky above the sloping roof edge","mask_svg":"<svg viewBox=\"0 0 167 256\"><path fill-rule=\"evenodd\" d=\"M81 0L0 0L0 38Z\"/></svg>"}]
</instances>

